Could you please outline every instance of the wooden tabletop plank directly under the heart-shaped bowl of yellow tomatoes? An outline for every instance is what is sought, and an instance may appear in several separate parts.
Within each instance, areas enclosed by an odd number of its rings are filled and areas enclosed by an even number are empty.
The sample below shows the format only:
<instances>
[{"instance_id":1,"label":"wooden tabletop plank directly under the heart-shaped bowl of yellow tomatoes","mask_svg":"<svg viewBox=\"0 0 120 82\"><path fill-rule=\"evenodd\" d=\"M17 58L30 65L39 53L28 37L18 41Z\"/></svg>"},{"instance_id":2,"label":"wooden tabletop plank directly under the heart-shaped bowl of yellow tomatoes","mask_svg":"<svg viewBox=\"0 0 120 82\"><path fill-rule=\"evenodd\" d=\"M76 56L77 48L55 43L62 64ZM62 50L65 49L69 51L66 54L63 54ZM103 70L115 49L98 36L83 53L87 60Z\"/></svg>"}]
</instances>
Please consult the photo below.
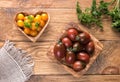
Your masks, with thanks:
<instances>
[{"instance_id":1,"label":"wooden tabletop plank directly under the heart-shaped bowl of yellow tomatoes","mask_svg":"<svg viewBox=\"0 0 120 82\"><path fill-rule=\"evenodd\" d=\"M14 24L14 17L17 12L26 11L26 12L36 12L41 8L1 8L0 9L0 40L16 40L16 41L30 41L27 39ZM76 12L74 9L45 9L50 13L51 20L50 23L39 38L38 41L49 41L55 40L59 33L67 26L69 22L78 23ZM104 19L104 31L101 32L98 28L88 29L99 40L120 40L120 33L114 31L111 28L111 22ZM80 25L83 28L86 28ZM86 28L87 29L87 28ZM17 37L16 37L17 36Z\"/></svg>"}]
</instances>

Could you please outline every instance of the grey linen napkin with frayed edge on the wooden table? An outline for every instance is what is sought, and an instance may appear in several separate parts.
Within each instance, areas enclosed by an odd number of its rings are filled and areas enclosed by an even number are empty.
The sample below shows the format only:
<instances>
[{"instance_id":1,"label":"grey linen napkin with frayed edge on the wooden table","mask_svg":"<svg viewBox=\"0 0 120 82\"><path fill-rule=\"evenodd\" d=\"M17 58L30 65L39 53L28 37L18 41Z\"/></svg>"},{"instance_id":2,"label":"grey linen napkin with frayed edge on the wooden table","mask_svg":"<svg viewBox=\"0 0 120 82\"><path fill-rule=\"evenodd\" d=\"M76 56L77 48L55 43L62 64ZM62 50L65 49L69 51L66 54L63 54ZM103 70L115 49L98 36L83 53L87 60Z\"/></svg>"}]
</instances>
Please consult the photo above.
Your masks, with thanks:
<instances>
[{"instance_id":1,"label":"grey linen napkin with frayed edge on the wooden table","mask_svg":"<svg viewBox=\"0 0 120 82\"><path fill-rule=\"evenodd\" d=\"M8 40L0 49L0 82L25 82L32 75L34 62L26 51Z\"/></svg>"}]
</instances>

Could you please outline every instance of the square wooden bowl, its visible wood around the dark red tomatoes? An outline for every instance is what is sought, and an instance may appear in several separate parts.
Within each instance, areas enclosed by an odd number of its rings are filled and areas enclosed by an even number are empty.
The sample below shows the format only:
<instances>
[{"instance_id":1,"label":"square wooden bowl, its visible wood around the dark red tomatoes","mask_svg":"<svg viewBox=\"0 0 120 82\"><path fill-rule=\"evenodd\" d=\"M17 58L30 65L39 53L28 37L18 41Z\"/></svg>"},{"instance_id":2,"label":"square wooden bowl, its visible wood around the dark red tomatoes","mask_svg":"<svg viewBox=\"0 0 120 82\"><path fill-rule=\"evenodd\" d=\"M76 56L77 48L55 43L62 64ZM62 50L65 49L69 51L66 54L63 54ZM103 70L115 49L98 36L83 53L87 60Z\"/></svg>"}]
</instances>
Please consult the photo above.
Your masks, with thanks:
<instances>
[{"instance_id":1,"label":"square wooden bowl, its visible wood around the dark red tomatoes","mask_svg":"<svg viewBox=\"0 0 120 82\"><path fill-rule=\"evenodd\" d=\"M87 32L84 28L81 28L79 25L75 24L75 23L70 23L68 28L72 27L72 28L76 28L78 31L84 31ZM68 29L66 28L61 34L65 33L65 31ZM91 40L94 42L95 45L95 50L94 53L92 54L92 56L90 57L90 61L89 63L86 65L86 67L79 71L76 72L74 71L71 67L68 67L66 64L64 64L64 61L60 62L58 61L55 57L54 57L54 53L53 53L53 49L54 49L54 45L56 44L56 42L60 39L60 37L57 39L57 41L50 46L49 50L48 50L48 57L54 61L57 62L59 65L61 65L62 67L65 68L65 70L67 70L68 72L70 72L73 76L75 77L80 77L81 75L85 74L86 71L91 67L91 65L93 64L93 62L96 60L96 58L98 57L98 55L100 54L101 50L103 49L103 45L101 44L101 42L99 42L93 35L91 35L90 33L88 33L91 36Z\"/></svg>"}]
</instances>

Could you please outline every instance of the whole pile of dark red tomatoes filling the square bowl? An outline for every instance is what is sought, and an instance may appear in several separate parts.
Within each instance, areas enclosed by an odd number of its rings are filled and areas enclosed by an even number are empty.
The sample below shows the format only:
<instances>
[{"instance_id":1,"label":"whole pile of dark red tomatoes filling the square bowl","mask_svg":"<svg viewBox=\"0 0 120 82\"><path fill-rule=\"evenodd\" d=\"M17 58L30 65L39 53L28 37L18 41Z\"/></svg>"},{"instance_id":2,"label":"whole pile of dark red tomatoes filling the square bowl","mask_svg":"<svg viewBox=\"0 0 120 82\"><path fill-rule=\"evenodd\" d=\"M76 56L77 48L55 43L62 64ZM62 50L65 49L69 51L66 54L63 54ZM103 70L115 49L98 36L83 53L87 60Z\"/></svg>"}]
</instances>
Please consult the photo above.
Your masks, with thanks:
<instances>
[{"instance_id":1,"label":"whole pile of dark red tomatoes filling the square bowl","mask_svg":"<svg viewBox=\"0 0 120 82\"><path fill-rule=\"evenodd\" d=\"M76 28L69 28L54 46L54 56L76 72L83 70L95 50L91 36Z\"/></svg>"}]
</instances>

